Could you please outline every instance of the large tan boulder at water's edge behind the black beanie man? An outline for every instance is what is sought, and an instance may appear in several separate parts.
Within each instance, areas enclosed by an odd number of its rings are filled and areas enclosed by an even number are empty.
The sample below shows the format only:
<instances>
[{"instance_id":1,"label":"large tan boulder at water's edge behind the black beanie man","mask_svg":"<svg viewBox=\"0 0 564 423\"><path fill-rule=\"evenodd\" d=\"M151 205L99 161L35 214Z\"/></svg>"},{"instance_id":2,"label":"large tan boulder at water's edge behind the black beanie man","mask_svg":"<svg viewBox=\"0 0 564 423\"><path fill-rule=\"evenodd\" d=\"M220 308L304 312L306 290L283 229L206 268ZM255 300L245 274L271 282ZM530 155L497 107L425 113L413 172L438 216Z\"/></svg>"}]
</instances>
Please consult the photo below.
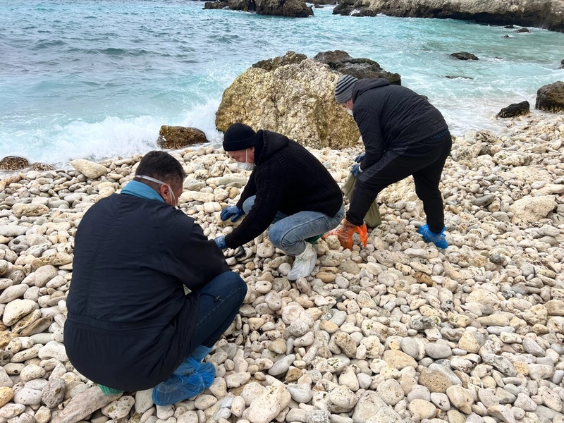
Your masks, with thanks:
<instances>
[{"instance_id":1,"label":"large tan boulder at water's edge behind the black beanie man","mask_svg":"<svg viewBox=\"0 0 564 423\"><path fill-rule=\"evenodd\" d=\"M255 63L223 92L216 127L224 132L241 122L315 148L356 145L357 125L335 102L338 78L329 66L293 51Z\"/></svg>"}]
</instances>

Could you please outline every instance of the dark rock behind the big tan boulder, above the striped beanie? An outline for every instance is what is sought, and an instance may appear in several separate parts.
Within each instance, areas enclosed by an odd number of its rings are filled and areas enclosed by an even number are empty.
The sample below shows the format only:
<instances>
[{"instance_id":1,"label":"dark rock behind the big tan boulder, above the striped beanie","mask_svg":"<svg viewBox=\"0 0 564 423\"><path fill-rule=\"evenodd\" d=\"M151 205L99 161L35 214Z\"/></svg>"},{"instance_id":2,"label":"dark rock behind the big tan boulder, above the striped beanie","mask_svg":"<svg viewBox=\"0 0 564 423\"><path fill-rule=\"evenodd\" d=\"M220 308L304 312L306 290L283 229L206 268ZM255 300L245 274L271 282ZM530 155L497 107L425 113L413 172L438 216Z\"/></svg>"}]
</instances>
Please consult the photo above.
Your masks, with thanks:
<instances>
[{"instance_id":1,"label":"dark rock behind the big tan boulder, above the striped beanie","mask_svg":"<svg viewBox=\"0 0 564 423\"><path fill-rule=\"evenodd\" d=\"M333 71L348 73L355 78L384 78L391 84L401 85L401 75L384 71L381 66L371 59L353 58L346 51L324 51L313 58L314 61L325 63Z\"/></svg>"}]
</instances>

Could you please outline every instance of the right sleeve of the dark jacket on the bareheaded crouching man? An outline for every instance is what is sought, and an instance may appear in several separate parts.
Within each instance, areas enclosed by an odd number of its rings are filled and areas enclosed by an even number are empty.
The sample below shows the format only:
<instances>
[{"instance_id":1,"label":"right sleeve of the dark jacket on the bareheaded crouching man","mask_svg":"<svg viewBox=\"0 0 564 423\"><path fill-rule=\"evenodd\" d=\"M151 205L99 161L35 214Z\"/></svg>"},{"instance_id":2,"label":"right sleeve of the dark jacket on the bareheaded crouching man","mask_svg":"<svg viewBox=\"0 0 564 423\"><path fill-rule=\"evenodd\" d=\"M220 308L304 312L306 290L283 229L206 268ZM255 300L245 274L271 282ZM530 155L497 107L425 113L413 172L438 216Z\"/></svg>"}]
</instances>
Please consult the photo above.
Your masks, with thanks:
<instances>
[{"instance_id":1,"label":"right sleeve of the dark jacket on the bareheaded crouching man","mask_svg":"<svg viewBox=\"0 0 564 423\"><path fill-rule=\"evenodd\" d=\"M187 288L200 288L230 270L221 249L207 239L192 218L177 210L168 227L171 229L163 257L166 269Z\"/></svg>"}]
</instances>

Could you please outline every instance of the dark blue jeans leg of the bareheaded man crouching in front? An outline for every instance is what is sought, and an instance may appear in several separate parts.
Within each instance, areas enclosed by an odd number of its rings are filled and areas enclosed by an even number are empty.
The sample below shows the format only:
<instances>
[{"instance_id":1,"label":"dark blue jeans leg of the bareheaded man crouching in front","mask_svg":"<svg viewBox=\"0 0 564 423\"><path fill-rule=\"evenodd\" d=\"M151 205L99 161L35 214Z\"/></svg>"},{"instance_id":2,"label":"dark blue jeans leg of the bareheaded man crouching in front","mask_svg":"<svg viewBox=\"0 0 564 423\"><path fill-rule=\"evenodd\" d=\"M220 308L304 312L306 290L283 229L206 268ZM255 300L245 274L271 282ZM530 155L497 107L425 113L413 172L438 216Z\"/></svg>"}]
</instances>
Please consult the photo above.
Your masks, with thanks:
<instances>
[{"instance_id":1,"label":"dark blue jeans leg of the bareheaded man crouching in front","mask_svg":"<svg viewBox=\"0 0 564 423\"><path fill-rule=\"evenodd\" d=\"M192 345L213 347L235 319L246 293L247 284L232 271L216 276L202 289L190 293L200 296L200 312Z\"/></svg>"}]
</instances>

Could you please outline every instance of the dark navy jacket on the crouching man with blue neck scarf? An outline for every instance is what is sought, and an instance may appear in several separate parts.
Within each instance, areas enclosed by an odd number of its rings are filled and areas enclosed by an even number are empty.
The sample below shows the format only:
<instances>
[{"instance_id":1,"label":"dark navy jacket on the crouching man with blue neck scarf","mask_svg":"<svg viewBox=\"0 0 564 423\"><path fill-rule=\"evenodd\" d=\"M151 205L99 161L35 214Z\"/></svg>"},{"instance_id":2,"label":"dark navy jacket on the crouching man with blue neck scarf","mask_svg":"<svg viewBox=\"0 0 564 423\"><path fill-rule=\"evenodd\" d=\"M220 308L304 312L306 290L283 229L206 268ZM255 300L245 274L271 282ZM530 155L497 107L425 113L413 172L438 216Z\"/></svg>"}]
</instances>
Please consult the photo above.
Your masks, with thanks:
<instances>
[{"instance_id":1,"label":"dark navy jacket on the crouching man with blue neck scarf","mask_svg":"<svg viewBox=\"0 0 564 423\"><path fill-rule=\"evenodd\" d=\"M65 345L81 374L123 391L164 381L197 345L197 290L229 271L221 250L180 210L114 194L76 233Z\"/></svg>"}]
</instances>

